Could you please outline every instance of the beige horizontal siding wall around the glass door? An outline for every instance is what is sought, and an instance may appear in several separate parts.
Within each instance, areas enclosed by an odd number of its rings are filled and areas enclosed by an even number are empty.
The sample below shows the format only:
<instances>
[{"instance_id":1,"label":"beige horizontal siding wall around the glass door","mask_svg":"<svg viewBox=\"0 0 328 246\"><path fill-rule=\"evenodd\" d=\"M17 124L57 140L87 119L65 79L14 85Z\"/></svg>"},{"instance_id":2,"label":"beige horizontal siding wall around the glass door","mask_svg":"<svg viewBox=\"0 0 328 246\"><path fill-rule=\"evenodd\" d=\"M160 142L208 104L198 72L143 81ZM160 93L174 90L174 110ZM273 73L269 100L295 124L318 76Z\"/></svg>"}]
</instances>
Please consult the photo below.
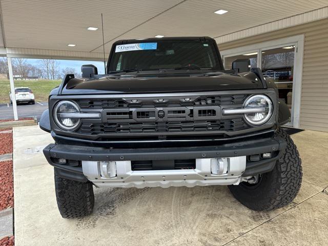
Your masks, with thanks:
<instances>
[{"instance_id":1,"label":"beige horizontal siding wall around the glass door","mask_svg":"<svg viewBox=\"0 0 328 246\"><path fill-rule=\"evenodd\" d=\"M304 34L300 127L328 132L328 18L219 45L220 50Z\"/></svg>"}]
</instances>

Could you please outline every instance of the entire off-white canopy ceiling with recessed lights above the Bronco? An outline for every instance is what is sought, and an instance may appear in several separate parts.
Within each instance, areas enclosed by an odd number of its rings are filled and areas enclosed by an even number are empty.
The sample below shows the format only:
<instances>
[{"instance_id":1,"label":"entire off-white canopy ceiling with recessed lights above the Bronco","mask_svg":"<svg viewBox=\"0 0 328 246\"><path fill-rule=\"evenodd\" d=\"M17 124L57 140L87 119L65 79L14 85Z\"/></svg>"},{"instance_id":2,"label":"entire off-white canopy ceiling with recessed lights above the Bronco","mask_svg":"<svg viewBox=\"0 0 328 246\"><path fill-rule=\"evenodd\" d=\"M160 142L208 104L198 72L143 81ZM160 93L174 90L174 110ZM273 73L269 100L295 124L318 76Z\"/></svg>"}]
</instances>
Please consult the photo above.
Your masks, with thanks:
<instances>
[{"instance_id":1,"label":"entire off-white canopy ceiling with recessed lights above the Bronco","mask_svg":"<svg viewBox=\"0 0 328 246\"><path fill-rule=\"evenodd\" d=\"M118 39L218 37L328 6L328 0L0 0L0 46L106 52ZM224 9L223 15L214 11ZM88 27L98 27L88 31ZM76 44L68 47L67 44Z\"/></svg>"}]
</instances>

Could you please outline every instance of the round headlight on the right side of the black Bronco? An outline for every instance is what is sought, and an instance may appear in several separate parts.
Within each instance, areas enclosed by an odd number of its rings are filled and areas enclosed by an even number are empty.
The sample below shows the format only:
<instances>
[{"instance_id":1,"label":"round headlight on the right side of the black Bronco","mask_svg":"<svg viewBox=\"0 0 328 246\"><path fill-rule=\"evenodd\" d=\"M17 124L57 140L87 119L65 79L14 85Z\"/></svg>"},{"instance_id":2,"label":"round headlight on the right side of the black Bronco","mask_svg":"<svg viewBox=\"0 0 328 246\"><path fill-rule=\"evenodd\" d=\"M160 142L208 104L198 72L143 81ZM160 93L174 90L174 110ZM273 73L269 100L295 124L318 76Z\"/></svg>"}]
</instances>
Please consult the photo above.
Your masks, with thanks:
<instances>
[{"instance_id":1,"label":"round headlight on the right side of the black Bronco","mask_svg":"<svg viewBox=\"0 0 328 246\"><path fill-rule=\"evenodd\" d=\"M246 120L252 125L262 125L267 122L273 112L272 101L265 95L254 95L245 100L244 109L253 112L246 113ZM257 110L256 110L257 109Z\"/></svg>"}]
</instances>

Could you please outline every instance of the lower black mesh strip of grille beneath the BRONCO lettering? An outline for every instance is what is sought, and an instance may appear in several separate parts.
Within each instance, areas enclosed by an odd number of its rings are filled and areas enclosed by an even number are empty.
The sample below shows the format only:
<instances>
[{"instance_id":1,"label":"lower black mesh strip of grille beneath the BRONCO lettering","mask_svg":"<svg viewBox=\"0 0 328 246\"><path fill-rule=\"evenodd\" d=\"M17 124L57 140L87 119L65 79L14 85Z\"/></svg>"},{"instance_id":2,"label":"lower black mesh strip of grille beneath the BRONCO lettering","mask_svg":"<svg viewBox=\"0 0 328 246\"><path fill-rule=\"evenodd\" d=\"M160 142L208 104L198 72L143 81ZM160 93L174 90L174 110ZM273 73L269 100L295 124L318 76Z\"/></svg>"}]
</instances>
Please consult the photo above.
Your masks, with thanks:
<instances>
[{"instance_id":1,"label":"lower black mesh strip of grille beneath the BRONCO lettering","mask_svg":"<svg viewBox=\"0 0 328 246\"><path fill-rule=\"evenodd\" d=\"M242 118L229 120L198 120L169 122L126 122L95 124L83 122L81 133L98 135L111 133L165 133L169 132L206 132L206 131L238 131L245 129Z\"/></svg>"}]
</instances>

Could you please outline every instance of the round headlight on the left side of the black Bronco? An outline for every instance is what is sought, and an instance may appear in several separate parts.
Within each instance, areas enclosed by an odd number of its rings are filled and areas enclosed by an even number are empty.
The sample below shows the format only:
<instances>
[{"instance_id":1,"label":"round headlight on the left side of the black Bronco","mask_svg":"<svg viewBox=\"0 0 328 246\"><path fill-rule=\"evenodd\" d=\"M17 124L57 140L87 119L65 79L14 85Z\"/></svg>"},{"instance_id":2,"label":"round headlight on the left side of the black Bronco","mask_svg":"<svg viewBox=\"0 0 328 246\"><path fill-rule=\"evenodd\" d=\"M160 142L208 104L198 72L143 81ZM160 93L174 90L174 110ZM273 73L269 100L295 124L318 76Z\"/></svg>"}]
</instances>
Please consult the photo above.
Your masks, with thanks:
<instances>
[{"instance_id":1,"label":"round headlight on the left side of the black Bronco","mask_svg":"<svg viewBox=\"0 0 328 246\"><path fill-rule=\"evenodd\" d=\"M74 117L73 113L79 112L79 107L72 101L59 101L53 110L53 118L61 129L73 131L80 122L80 119ZM72 114L71 117L70 114Z\"/></svg>"}]
</instances>

